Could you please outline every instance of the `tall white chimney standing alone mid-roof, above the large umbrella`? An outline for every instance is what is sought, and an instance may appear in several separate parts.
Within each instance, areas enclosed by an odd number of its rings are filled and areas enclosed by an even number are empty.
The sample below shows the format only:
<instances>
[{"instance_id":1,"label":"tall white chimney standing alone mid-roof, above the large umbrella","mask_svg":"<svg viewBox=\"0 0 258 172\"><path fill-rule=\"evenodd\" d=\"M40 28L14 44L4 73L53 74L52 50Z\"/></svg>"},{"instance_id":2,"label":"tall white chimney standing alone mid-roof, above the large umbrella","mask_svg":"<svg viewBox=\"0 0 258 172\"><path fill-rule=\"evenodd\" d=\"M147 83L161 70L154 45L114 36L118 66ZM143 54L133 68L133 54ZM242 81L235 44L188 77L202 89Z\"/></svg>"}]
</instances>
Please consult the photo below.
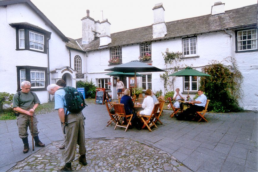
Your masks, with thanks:
<instances>
[{"instance_id":1,"label":"tall white chimney standing alone mid-roof, above the large umbrella","mask_svg":"<svg viewBox=\"0 0 258 172\"><path fill-rule=\"evenodd\" d=\"M154 13L154 23L152 24L153 39L165 37L167 34L167 24L165 23L165 9L162 3L155 4L152 10Z\"/></svg>"}]
</instances>

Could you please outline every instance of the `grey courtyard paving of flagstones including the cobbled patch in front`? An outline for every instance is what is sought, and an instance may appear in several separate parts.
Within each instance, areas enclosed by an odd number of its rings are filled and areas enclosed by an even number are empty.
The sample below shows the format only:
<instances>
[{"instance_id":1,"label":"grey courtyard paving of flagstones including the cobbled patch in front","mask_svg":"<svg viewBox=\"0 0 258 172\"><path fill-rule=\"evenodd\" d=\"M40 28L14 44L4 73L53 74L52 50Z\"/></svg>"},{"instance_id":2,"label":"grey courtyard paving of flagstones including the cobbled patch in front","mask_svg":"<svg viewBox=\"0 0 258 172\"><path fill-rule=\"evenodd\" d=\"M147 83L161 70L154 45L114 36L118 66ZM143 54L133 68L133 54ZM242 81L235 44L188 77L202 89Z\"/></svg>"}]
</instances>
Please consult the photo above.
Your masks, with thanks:
<instances>
[{"instance_id":1,"label":"grey courtyard paving of flagstones including the cobbled patch in front","mask_svg":"<svg viewBox=\"0 0 258 172\"><path fill-rule=\"evenodd\" d=\"M76 171L258 171L258 112L206 113L208 122L178 121L164 110L163 125L149 130L114 130L106 105L83 110L87 166ZM16 120L0 121L0 171L58 171L63 143L57 112L37 115L39 138L46 144L23 154Z\"/></svg>"}]
</instances>

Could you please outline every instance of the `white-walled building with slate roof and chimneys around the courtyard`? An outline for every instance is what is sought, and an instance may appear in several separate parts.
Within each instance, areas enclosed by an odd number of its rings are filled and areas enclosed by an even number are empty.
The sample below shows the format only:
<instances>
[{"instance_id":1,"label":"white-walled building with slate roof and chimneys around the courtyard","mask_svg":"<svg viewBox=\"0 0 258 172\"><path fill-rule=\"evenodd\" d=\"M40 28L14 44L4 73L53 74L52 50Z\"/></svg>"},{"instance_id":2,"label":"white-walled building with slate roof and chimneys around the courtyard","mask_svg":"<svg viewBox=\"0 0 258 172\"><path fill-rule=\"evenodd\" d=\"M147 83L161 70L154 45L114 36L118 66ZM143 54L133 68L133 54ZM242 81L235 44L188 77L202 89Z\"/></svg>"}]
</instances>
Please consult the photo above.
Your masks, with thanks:
<instances>
[{"instance_id":1,"label":"white-walled building with slate roof and chimneys around the courtyard","mask_svg":"<svg viewBox=\"0 0 258 172\"><path fill-rule=\"evenodd\" d=\"M92 80L97 87L106 88L112 98L116 98L117 78L105 75L109 73L105 69L138 60L139 56L146 53L151 54L151 59L144 63L165 69L161 52L168 48L169 51L184 53L184 60L179 65L193 66L198 71L211 60L221 61L227 57L235 59L244 77L240 106L247 110L258 110L255 77L258 70L257 4L224 11L224 4L215 3L209 15L165 23L164 8L160 3L153 8L154 22L150 23L151 26L114 34L110 34L107 19L95 21L87 10L87 16L82 18L82 38L74 40L66 38L29 0L19 4L10 2L13 1L0 1L0 14L4 16L0 19L0 92L15 93L21 79L28 79L36 83L32 88L40 101L45 103L51 99L46 86L63 78L67 85L74 87L78 80ZM43 35L44 50L28 49L32 44L40 44L32 43L32 40L27 42L28 50L19 48L19 42L23 42L23 37L19 37L19 29L35 32L34 36ZM109 64L112 59L119 59L119 63ZM33 72L42 74L43 71L44 85L41 85L42 80L33 80L32 75ZM21 72L25 72L25 78L21 77ZM164 90L159 76L162 72L141 74L144 77L137 77L138 86L144 90L150 88L154 92ZM131 79L120 77L127 88L132 86ZM179 87L184 94L188 86L184 82L186 79L178 77L175 81L175 87ZM196 77L189 79L193 98L199 80L195 80L198 79Z\"/></svg>"}]
</instances>

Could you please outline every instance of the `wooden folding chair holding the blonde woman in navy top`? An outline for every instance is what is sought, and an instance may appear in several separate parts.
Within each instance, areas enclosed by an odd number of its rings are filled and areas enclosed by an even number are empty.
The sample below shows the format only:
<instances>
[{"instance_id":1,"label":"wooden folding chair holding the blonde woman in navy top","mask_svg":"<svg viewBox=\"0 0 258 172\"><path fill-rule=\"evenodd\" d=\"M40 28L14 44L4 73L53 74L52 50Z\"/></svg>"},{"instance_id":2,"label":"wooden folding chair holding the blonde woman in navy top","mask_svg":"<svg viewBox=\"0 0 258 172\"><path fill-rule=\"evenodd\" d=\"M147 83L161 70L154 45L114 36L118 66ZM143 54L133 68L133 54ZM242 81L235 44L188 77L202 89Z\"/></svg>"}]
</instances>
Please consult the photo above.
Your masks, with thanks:
<instances>
[{"instance_id":1,"label":"wooden folding chair holding the blonde woman in navy top","mask_svg":"<svg viewBox=\"0 0 258 172\"><path fill-rule=\"evenodd\" d=\"M117 127L122 127L122 128L125 128L125 132L126 132L129 127L129 124L133 118L133 114L130 114L130 115L125 114L124 104L113 103L113 105L114 105L114 109L115 109L114 120L117 122L114 130ZM120 120L121 119L123 120L124 117L125 117L125 124L122 124L122 122L120 122ZM128 120L128 118L130 118L130 119Z\"/></svg>"}]
</instances>

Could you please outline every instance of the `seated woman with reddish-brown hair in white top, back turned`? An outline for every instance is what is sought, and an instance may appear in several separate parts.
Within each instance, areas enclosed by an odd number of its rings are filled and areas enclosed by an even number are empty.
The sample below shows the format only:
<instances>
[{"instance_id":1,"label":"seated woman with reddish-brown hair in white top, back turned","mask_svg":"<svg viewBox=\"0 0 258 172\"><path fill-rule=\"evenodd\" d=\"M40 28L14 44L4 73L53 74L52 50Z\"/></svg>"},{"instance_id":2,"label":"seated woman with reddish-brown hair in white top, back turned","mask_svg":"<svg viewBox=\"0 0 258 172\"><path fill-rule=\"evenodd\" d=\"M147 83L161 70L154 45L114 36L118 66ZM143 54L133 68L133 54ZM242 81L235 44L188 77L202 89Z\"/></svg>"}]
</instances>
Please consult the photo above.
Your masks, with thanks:
<instances>
[{"instance_id":1,"label":"seated woman with reddish-brown hair in white top, back turned","mask_svg":"<svg viewBox=\"0 0 258 172\"><path fill-rule=\"evenodd\" d=\"M153 102L153 98L151 97L151 95L152 95L152 91L150 89L146 90L145 98L142 103L142 108L144 108L144 110L138 112L137 116L151 115L152 110L154 108L154 102ZM141 114L141 115L139 115L139 114Z\"/></svg>"}]
</instances>

